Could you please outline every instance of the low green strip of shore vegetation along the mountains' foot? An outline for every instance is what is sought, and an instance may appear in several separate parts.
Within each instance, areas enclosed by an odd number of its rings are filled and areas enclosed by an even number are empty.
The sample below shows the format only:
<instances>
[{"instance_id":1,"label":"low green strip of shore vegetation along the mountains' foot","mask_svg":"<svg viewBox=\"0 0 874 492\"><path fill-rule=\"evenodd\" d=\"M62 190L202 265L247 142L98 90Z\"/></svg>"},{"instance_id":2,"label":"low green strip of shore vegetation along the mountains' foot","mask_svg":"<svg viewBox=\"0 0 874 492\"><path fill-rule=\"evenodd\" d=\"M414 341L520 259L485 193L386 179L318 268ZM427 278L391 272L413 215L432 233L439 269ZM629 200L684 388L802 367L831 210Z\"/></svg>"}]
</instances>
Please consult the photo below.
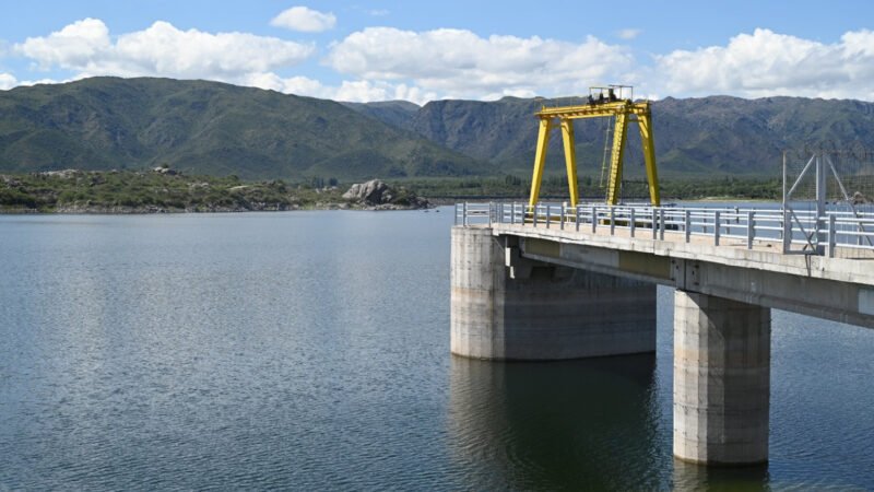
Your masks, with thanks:
<instances>
[{"instance_id":1,"label":"low green strip of shore vegetation along the mountains' foot","mask_svg":"<svg viewBox=\"0 0 874 492\"><path fill-rule=\"evenodd\" d=\"M154 213L232 212L364 208L342 198L350 183L309 178L243 181L235 176L189 176L172 169L84 172L58 171L0 175L0 212ZM439 202L463 199L524 199L530 181L516 176L485 178L421 178L394 181L395 202L403 208L409 197L424 196ZM600 200L603 188L589 177L580 178L583 199ZM778 179L718 178L662 179L662 200L778 199ZM415 190L415 194L408 190ZM541 196L567 197L565 177L547 177ZM623 183L625 199L647 199L642 180Z\"/></svg>"}]
</instances>

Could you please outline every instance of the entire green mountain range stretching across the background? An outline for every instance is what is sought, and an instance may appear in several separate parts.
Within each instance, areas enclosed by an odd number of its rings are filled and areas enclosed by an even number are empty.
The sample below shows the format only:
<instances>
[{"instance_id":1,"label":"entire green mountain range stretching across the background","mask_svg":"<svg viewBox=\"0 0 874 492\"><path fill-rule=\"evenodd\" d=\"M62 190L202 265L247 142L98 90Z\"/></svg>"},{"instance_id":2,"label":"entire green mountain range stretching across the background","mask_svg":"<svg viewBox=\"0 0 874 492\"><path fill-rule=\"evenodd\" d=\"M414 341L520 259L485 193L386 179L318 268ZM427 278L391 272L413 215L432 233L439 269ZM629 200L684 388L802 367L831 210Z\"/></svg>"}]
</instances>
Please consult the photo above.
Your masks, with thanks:
<instances>
[{"instance_id":1,"label":"entire green mountain range stretching across the background","mask_svg":"<svg viewBox=\"0 0 874 492\"><path fill-rule=\"evenodd\" d=\"M241 178L527 175L533 114L582 98L336 103L169 79L94 78L0 91L0 172L168 164ZM663 175L779 174L783 150L874 148L874 104L729 96L652 103ZM610 120L578 120L580 173L597 176ZM626 173L642 173L629 132ZM555 134L548 171L560 173Z\"/></svg>"}]
</instances>

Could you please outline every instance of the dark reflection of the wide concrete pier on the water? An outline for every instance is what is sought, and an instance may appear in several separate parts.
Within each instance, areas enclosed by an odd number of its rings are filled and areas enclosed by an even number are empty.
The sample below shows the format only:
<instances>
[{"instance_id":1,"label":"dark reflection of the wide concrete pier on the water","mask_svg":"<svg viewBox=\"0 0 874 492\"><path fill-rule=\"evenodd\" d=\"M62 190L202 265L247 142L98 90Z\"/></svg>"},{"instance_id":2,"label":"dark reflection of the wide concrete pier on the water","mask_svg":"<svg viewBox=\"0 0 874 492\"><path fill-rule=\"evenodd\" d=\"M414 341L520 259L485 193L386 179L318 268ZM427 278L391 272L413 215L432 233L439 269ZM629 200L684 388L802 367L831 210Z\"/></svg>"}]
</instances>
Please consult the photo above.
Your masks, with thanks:
<instances>
[{"instance_id":1,"label":"dark reflection of the wide concrete pier on the water","mask_svg":"<svg viewBox=\"0 0 874 492\"><path fill-rule=\"evenodd\" d=\"M474 490L658 488L664 430L654 368L653 354L544 363L453 356L453 458L483 468Z\"/></svg>"}]
</instances>

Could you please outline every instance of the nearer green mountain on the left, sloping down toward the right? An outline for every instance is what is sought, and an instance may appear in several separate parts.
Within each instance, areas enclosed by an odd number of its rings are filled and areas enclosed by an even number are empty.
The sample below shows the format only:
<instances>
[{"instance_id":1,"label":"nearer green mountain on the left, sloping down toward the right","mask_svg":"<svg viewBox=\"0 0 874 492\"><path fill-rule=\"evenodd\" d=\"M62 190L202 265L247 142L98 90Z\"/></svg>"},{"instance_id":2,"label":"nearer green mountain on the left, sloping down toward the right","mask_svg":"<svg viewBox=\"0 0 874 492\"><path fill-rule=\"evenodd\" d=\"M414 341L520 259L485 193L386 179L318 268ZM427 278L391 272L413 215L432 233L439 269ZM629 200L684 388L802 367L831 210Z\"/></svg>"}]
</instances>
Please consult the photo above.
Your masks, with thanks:
<instances>
[{"instance_id":1,"label":"nearer green mountain on the left, sloping down toward the right","mask_svg":"<svg viewBox=\"0 0 874 492\"><path fill-rule=\"evenodd\" d=\"M243 178L483 171L469 156L339 103L272 91L115 78L0 91L0 171L163 163Z\"/></svg>"}]
</instances>

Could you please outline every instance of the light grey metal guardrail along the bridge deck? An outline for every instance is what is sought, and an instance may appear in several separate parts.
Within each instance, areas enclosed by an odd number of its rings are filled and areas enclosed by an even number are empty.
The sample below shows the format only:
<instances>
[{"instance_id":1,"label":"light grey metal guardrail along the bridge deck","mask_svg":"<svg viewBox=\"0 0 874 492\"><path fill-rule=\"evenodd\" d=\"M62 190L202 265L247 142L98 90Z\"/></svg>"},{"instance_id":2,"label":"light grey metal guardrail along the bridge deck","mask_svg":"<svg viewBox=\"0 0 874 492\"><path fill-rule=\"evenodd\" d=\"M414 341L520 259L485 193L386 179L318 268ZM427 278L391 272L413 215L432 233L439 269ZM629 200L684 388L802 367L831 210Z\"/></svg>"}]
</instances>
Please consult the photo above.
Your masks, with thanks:
<instances>
[{"instance_id":1,"label":"light grey metal guardrail along the bridge deck","mask_svg":"<svg viewBox=\"0 0 874 492\"><path fill-rule=\"evenodd\" d=\"M641 234L664 241L665 231L711 237L719 246L725 239L745 242L752 249L757 242L780 242L783 253L835 256L836 248L874 250L874 213L755 208L694 208L649 206L604 206L539 203L457 203L456 225L519 224L598 233L609 230L637 237ZM641 236L642 237L642 236ZM801 246L801 249L793 247Z\"/></svg>"}]
</instances>

